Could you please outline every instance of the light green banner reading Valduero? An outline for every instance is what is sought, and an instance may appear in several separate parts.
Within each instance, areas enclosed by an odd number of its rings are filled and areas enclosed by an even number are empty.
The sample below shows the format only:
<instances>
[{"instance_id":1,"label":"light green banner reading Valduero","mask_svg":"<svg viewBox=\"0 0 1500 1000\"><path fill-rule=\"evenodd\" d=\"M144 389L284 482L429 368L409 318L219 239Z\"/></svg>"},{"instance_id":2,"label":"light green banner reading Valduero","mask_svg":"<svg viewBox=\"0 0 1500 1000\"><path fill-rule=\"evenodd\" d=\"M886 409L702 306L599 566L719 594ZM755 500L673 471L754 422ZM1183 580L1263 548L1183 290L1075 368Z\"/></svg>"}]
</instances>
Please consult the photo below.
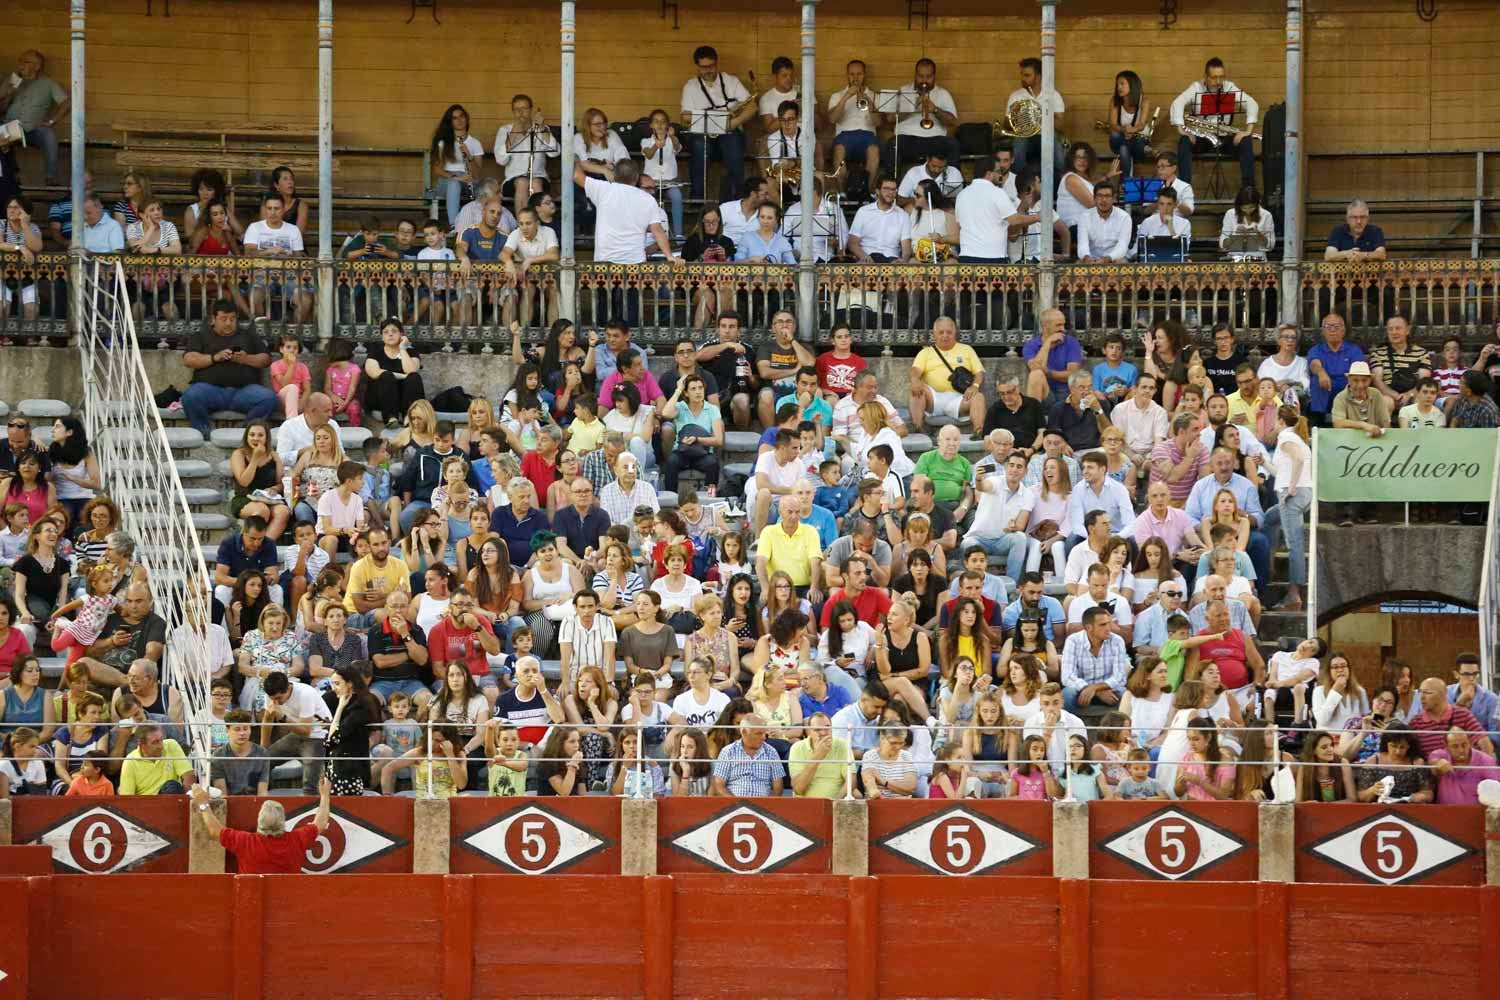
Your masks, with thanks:
<instances>
[{"instance_id":1,"label":"light green banner reading Valduero","mask_svg":"<svg viewBox=\"0 0 1500 1000\"><path fill-rule=\"evenodd\" d=\"M1486 429L1317 432L1317 499L1486 502L1496 441Z\"/></svg>"}]
</instances>

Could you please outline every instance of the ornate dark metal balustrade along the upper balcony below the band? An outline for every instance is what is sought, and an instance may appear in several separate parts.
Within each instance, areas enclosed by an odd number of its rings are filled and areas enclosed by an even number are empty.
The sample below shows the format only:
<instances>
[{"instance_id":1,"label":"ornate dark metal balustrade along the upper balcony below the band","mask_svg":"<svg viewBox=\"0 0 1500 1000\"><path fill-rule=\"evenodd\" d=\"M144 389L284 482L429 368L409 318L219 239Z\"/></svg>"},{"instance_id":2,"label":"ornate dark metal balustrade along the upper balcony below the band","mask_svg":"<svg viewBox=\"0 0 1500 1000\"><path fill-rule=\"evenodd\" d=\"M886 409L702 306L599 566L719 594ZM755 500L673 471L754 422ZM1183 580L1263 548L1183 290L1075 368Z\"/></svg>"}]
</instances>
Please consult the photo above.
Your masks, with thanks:
<instances>
[{"instance_id":1,"label":"ornate dark metal balustrade along the upper balcony below the band","mask_svg":"<svg viewBox=\"0 0 1500 1000\"><path fill-rule=\"evenodd\" d=\"M249 316L264 316L268 331L291 331L308 342L322 336L366 337L387 315L412 327L428 346L495 349L507 343L512 319L531 336L560 313L564 285L576 286L584 327L624 316L638 340L670 343L714 324L735 309L752 330L764 330L777 309L796 309L796 268L768 264L596 264L572 274L546 265L512 277L500 264L465 271L441 261L252 259L224 256L118 258L135 303L142 339L176 346L206 318L208 304L232 298ZM332 328L320 330L316 289L332 273ZM1106 334L1138 337L1154 319L1170 316L1196 334L1228 322L1250 339L1270 340L1280 321L1286 268L1264 262L1214 264L1060 264L1056 304L1086 343ZM1036 328L1041 307L1036 265L970 264L824 264L816 270L816 339L836 322L849 322L866 348L915 348L927 342L932 321L958 319L966 342L1014 348ZM1359 337L1378 336L1401 310L1418 337L1473 336L1500 318L1500 261L1398 259L1296 267L1298 319L1305 328L1329 309L1346 313ZM68 258L42 253L34 261L0 259L0 280L12 291L36 288L36 307L12 295L0 315L0 336L66 336Z\"/></svg>"}]
</instances>

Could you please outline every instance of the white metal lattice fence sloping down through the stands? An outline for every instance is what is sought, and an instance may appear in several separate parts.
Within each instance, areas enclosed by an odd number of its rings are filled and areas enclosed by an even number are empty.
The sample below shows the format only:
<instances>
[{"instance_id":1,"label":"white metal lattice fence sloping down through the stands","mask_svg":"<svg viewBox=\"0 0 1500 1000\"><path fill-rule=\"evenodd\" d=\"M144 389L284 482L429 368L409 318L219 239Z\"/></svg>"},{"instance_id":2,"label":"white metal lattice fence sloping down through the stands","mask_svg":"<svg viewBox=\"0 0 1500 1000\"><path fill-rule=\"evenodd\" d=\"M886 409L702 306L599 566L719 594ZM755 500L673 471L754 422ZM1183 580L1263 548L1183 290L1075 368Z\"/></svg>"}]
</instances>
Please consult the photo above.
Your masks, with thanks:
<instances>
[{"instance_id":1,"label":"white metal lattice fence sloping down through the stands","mask_svg":"<svg viewBox=\"0 0 1500 1000\"><path fill-rule=\"evenodd\" d=\"M190 736L184 750L207 781L208 684L220 666L208 663L208 573L141 360L124 271L117 261L93 259L84 271L87 295L78 324L84 426L104 490L120 507L120 526L135 538L136 559L150 573L154 610L166 621L162 684L176 687L184 700Z\"/></svg>"}]
</instances>

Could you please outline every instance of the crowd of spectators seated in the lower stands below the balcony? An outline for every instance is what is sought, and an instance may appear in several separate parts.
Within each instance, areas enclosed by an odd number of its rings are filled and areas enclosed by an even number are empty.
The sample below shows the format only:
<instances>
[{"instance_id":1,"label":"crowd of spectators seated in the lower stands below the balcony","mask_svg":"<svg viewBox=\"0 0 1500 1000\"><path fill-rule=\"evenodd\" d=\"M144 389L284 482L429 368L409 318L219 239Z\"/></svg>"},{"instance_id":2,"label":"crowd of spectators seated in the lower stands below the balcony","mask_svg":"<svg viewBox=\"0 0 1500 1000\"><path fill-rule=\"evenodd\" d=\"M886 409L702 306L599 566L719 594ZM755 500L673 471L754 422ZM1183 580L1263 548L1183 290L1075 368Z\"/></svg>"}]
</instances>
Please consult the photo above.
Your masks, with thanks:
<instances>
[{"instance_id":1,"label":"crowd of spectators seated in the lower stands below the balcony","mask_svg":"<svg viewBox=\"0 0 1500 1000\"><path fill-rule=\"evenodd\" d=\"M789 313L760 348L720 315L662 378L624 322L531 348L518 324L514 384L454 427L399 321L363 366L330 345L314 388L296 340L273 360L219 301L183 352L189 421L248 417L200 594L212 774L81 424L44 453L14 417L10 789L266 793L300 762L339 795L1254 798L1302 751L1302 798L1372 798L1377 771L1416 801L1473 793L1497 720L1468 658L1388 709L1338 651L1268 661L1257 628L1300 607L1308 427L1376 433L1388 394L1402 426L1476 426L1488 373L1443 399L1401 318L1364 360L1329 313L1306 358L1288 337L1258 372L1228 328L1197 351L1164 321L1143 358L1110 339L1084 369L1060 313L1040 325L1023 379L936 321L903 412L846 331L814 357ZM340 417L382 429L358 459ZM729 472L726 427L762 420Z\"/></svg>"}]
</instances>

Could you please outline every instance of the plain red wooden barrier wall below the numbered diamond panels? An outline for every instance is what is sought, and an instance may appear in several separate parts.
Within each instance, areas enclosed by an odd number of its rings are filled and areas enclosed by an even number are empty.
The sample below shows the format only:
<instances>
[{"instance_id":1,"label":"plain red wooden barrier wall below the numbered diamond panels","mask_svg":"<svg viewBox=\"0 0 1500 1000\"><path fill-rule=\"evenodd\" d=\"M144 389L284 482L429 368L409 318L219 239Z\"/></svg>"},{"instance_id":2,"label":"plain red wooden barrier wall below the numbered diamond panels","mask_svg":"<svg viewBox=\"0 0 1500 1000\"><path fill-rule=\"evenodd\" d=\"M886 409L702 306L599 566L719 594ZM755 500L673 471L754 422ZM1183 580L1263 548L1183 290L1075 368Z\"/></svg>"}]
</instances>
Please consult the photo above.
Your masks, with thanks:
<instances>
[{"instance_id":1,"label":"plain red wooden barrier wall below the numbered diamond panels","mask_svg":"<svg viewBox=\"0 0 1500 1000\"><path fill-rule=\"evenodd\" d=\"M1500 886L933 876L0 879L0 999L1480 1000Z\"/></svg>"}]
</instances>

